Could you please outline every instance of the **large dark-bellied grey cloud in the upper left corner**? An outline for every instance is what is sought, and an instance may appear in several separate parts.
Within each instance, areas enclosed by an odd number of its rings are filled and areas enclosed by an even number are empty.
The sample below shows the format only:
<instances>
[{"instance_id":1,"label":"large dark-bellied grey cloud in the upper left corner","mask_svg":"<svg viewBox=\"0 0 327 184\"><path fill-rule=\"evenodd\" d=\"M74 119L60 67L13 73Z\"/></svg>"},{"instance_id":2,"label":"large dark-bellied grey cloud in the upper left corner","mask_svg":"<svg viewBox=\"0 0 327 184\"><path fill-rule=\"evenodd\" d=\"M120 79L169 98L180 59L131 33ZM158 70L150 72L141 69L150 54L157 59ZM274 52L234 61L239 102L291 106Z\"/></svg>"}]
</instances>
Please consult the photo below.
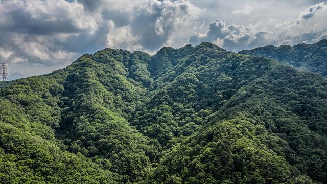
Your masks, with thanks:
<instances>
[{"instance_id":1,"label":"large dark-bellied grey cloud in the upper left corner","mask_svg":"<svg viewBox=\"0 0 327 184\"><path fill-rule=\"evenodd\" d=\"M101 14L88 14L82 4L58 1L3 1L0 10L6 18L1 30L36 35L94 32Z\"/></svg>"}]
</instances>

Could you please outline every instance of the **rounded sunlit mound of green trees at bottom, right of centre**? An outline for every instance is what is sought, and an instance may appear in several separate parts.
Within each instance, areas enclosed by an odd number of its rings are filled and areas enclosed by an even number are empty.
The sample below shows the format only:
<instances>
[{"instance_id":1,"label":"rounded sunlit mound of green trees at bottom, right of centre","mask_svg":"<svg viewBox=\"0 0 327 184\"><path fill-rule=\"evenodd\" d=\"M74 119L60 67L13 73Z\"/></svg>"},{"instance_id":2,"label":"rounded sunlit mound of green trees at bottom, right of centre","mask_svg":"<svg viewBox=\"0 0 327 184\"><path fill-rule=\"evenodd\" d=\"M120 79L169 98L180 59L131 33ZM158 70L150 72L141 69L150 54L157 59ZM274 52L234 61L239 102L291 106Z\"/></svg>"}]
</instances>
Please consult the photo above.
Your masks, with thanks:
<instances>
[{"instance_id":1,"label":"rounded sunlit mound of green trees at bottom, right of centre","mask_svg":"<svg viewBox=\"0 0 327 184\"><path fill-rule=\"evenodd\" d=\"M174 176L186 183L291 183L302 177L267 147L270 136L279 139L245 117L216 123L171 151L149 182L170 183Z\"/></svg>"}]
</instances>

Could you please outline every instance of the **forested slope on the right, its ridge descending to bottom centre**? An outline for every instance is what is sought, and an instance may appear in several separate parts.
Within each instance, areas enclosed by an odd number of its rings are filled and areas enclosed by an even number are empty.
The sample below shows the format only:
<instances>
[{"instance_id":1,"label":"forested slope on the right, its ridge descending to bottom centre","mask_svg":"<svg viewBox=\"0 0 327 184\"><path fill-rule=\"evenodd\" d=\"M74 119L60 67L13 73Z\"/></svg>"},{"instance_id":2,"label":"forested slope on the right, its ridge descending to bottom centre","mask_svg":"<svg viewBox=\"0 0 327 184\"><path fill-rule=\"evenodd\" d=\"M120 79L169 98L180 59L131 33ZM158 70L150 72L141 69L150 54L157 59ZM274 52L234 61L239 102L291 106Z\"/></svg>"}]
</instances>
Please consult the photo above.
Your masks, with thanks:
<instances>
[{"instance_id":1,"label":"forested slope on the right, its ridge descending to bottom centre","mask_svg":"<svg viewBox=\"0 0 327 184\"><path fill-rule=\"evenodd\" d=\"M310 176L326 182L326 82L273 65L174 147L150 181L310 183Z\"/></svg>"}]
</instances>

